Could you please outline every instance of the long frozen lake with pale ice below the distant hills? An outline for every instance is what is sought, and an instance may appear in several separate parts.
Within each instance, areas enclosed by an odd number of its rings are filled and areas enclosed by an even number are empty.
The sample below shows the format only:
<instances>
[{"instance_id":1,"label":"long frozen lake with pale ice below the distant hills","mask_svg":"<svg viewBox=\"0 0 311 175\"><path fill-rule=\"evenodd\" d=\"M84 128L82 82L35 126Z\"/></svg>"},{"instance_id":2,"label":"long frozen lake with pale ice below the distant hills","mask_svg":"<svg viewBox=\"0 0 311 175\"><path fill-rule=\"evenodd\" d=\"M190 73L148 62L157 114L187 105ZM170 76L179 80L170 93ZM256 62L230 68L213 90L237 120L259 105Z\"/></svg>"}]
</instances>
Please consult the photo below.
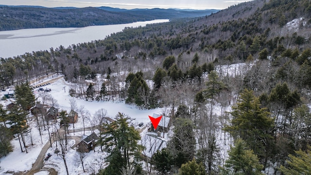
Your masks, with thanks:
<instances>
[{"instance_id":1,"label":"long frozen lake with pale ice below the distant hills","mask_svg":"<svg viewBox=\"0 0 311 175\"><path fill-rule=\"evenodd\" d=\"M125 27L145 26L146 24L168 22L169 19L115 24L104 26L89 26L82 28L40 28L22 29L0 32L0 57L13 57L33 51L50 50L60 45L67 48L71 44L104 39L112 33L121 32Z\"/></svg>"}]
</instances>

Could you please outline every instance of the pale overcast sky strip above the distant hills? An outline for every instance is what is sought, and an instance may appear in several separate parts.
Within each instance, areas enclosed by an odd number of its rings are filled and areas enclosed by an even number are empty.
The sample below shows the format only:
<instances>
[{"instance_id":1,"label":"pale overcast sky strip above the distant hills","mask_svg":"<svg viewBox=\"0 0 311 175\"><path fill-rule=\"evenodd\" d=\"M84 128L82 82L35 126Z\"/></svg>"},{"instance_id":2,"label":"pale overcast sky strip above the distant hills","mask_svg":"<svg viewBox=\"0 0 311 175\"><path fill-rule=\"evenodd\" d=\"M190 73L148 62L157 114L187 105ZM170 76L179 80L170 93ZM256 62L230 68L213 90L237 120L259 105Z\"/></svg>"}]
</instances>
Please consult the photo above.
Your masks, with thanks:
<instances>
[{"instance_id":1,"label":"pale overcast sky strip above the distant hills","mask_svg":"<svg viewBox=\"0 0 311 175\"><path fill-rule=\"evenodd\" d=\"M45 7L118 7L225 9L249 0L0 0L2 5L39 5Z\"/></svg>"}]
</instances>

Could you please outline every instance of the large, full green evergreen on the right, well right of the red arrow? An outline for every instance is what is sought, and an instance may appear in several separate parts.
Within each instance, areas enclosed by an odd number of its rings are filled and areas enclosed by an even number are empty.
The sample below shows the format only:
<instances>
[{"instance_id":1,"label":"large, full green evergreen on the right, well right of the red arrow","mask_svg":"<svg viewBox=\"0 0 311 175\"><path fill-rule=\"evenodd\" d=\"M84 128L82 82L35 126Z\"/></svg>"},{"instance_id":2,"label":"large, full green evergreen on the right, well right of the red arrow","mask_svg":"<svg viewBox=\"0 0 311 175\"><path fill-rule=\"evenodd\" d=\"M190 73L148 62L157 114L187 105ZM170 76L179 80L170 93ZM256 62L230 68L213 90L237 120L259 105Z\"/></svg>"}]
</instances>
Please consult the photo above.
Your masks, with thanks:
<instances>
[{"instance_id":1,"label":"large, full green evergreen on the right, well right of the red arrow","mask_svg":"<svg viewBox=\"0 0 311 175\"><path fill-rule=\"evenodd\" d=\"M269 156L268 143L272 140L274 119L270 118L266 108L260 108L259 98L252 90L244 89L238 103L232 106L231 115L231 126L225 126L224 130L235 139L245 140L260 158Z\"/></svg>"}]
</instances>

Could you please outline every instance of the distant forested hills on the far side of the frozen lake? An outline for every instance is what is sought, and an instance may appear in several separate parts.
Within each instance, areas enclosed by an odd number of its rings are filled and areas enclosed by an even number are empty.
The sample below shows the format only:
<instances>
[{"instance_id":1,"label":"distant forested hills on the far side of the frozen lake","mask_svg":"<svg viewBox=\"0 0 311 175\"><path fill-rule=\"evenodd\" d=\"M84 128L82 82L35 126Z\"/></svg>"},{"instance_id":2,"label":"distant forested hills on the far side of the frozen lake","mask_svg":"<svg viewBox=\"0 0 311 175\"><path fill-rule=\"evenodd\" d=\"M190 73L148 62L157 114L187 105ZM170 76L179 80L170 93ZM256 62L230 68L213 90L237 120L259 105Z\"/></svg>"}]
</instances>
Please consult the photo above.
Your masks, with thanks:
<instances>
[{"instance_id":1,"label":"distant forested hills on the far side of the frozen lake","mask_svg":"<svg viewBox=\"0 0 311 175\"><path fill-rule=\"evenodd\" d=\"M48 27L86 27L153 19L193 18L206 16L217 11L183 11L159 8L125 10L105 7L45 8L0 6L0 31Z\"/></svg>"}]
</instances>

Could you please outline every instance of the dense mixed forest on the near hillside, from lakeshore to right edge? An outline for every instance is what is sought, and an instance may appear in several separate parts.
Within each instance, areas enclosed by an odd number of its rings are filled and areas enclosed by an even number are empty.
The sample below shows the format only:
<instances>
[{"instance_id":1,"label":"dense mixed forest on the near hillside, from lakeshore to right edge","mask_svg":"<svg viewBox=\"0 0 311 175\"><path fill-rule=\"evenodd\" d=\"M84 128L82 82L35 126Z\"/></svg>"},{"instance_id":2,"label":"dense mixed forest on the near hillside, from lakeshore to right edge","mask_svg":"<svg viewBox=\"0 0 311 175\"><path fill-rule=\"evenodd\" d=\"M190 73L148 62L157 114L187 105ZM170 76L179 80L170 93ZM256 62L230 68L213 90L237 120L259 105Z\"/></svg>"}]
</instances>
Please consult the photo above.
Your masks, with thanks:
<instances>
[{"instance_id":1,"label":"dense mixed forest on the near hillside, from lakeshore to right edge","mask_svg":"<svg viewBox=\"0 0 311 175\"><path fill-rule=\"evenodd\" d=\"M0 86L63 74L77 85L70 89L77 98L169 108L175 137L155 153L149 174L310 174L310 30L309 0L253 0L210 16L1 58ZM111 137L102 144L131 149L139 162L139 137L131 130L132 144L118 140L128 124L123 114L118 119L104 126ZM226 160L219 133L234 140ZM112 148L104 148L110 164L101 175L130 166L130 156Z\"/></svg>"}]
</instances>

